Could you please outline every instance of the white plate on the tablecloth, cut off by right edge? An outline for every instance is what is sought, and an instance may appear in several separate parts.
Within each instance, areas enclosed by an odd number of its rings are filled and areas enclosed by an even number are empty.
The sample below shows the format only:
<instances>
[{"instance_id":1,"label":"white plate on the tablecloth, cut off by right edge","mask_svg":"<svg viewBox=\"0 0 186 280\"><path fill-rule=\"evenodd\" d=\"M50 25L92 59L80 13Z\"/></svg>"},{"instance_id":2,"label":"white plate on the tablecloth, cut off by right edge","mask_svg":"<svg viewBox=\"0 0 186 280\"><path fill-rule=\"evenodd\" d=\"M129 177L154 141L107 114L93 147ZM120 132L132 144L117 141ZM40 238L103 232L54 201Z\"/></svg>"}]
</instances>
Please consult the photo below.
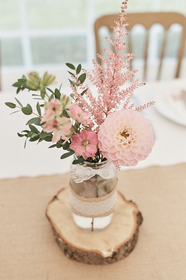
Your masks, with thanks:
<instances>
[{"instance_id":1,"label":"white plate on the tablecloth, cut off by right edge","mask_svg":"<svg viewBox=\"0 0 186 280\"><path fill-rule=\"evenodd\" d=\"M186 103L183 99L174 99L172 95L179 94L181 89L165 88L156 93L156 110L175 123L186 126Z\"/></svg>"}]
</instances>

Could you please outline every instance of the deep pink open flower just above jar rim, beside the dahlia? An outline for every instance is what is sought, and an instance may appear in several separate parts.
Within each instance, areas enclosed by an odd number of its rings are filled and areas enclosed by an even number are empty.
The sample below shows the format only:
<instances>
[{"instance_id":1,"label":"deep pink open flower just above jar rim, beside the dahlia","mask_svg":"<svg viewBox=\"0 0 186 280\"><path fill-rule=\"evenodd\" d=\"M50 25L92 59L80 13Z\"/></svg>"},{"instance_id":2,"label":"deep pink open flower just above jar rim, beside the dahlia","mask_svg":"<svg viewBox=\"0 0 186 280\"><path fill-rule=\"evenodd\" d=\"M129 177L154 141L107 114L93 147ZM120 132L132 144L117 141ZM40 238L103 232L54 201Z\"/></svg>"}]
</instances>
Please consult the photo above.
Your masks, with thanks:
<instances>
[{"instance_id":1,"label":"deep pink open flower just above jar rim, beside the dahlia","mask_svg":"<svg viewBox=\"0 0 186 280\"><path fill-rule=\"evenodd\" d=\"M97 152L98 135L95 132L81 130L79 134L71 136L70 148L75 151L76 156L95 157Z\"/></svg>"}]
</instances>

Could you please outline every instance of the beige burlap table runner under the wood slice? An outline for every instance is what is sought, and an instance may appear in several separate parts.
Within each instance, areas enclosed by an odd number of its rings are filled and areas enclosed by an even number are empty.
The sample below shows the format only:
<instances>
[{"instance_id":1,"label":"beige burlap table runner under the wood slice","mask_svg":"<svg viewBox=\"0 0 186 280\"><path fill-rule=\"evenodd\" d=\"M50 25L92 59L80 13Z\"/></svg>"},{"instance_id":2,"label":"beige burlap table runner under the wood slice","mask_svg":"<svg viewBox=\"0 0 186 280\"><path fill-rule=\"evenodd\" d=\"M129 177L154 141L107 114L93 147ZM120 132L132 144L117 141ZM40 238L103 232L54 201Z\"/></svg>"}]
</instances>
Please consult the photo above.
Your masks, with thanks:
<instances>
[{"instance_id":1,"label":"beige burlap table runner under the wood slice","mask_svg":"<svg viewBox=\"0 0 186 280\"><path fill-rule=\"evenodd\" d=\"M103 266L67 259L45 217L68 174L1 180L0 279L185 280L186 164L120 171L118 177L119 190L138 204L144 221L134 251Z\"/></svg>"}]
</instances>

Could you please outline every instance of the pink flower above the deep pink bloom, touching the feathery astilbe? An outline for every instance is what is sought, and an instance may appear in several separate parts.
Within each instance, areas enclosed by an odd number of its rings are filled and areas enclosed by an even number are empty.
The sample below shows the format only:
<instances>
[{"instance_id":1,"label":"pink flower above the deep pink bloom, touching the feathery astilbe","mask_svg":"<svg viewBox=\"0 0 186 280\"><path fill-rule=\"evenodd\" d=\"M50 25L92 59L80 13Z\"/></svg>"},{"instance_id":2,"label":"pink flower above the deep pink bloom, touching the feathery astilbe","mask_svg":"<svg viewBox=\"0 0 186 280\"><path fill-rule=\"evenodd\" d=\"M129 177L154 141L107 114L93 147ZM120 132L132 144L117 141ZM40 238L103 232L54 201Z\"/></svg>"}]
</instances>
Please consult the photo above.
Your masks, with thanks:
<instances>
[{"instance_id":1,"label":"pink flower above the deep pink bloom, touching the feathery astilbe","mask_svg":"<svg viewBox=\"0 0 186 280\"><path fill-rule=\"evenodd\" d=\"M87 126L91 122L91 120L89 119L91 117L91 113L88 111L83 112L79 105L70 108L69 111L69 116L78 123L82 123L83 125Z\"/></svg>"}]
</instances>

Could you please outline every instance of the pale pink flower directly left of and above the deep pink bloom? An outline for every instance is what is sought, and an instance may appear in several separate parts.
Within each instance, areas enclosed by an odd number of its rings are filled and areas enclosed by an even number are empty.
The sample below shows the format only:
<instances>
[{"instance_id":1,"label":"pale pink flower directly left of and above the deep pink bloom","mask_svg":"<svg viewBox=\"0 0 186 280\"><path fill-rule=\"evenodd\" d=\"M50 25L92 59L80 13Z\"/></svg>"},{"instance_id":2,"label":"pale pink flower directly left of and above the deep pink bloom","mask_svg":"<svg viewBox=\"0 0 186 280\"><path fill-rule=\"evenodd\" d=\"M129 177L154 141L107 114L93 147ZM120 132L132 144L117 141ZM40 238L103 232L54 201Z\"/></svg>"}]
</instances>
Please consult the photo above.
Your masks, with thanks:
<instances>
[{"instance_id":1,"label":"pale pink flower directly left of and above the deep pink bloom","mask_svg":"<svg viewBox=\"0 0 186 280\"><path fill-rule=\"evenodd\" d=\"M66 137L70 134L71 127L71 120L69 118L62 117L46 122L43 125L43 130L48 133L54 132L52 142L57 142L61 139L61 137Z\"/></svg>"}]
</instances>

